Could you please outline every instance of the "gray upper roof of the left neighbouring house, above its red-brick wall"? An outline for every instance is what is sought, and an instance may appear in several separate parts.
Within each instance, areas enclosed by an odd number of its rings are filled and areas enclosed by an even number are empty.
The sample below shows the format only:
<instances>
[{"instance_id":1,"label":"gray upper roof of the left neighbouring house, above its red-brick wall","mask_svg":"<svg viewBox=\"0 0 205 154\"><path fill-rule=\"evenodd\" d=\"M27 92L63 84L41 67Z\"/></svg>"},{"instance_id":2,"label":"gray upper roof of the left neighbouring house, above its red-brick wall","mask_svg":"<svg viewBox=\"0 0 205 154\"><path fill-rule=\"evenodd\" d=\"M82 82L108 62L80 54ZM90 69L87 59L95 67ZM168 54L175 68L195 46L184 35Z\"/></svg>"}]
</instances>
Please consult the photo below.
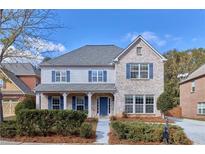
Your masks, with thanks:
<instances>
[{"instance_id":1,"label":"gray upper roof of the left neighbouring house, above its red-brick wall","mask_svg":"<svg viewBox=\"0 0 205 154\"><path fill-rule=\"evenodd\" d=\"M38 75L38 70L30 63L2 63L3 68L15 75Z\"/></svg>"}]
</instances>

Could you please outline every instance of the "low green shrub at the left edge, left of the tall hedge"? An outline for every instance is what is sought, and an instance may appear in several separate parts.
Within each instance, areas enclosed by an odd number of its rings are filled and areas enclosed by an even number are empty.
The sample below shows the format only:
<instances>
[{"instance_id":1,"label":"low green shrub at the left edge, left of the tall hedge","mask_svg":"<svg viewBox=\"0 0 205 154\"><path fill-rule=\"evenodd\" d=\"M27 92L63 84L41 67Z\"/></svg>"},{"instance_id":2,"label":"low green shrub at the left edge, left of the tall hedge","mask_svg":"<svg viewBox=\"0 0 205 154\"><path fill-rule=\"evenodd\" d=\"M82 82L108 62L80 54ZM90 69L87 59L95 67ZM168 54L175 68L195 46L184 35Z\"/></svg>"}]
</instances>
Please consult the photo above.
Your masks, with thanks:
<instances>
[{"instance_id":1,"label":"low green shrub at the left edge, left of the tall hedge","mask_svg":"<svg viewBox=\"0 0 205 154\"><path fill-rule=\"evenodd\" d=\"M16 136L16 121L5 121L0 124L0 136L11 138Z\"/></svg>"}]
</instances>

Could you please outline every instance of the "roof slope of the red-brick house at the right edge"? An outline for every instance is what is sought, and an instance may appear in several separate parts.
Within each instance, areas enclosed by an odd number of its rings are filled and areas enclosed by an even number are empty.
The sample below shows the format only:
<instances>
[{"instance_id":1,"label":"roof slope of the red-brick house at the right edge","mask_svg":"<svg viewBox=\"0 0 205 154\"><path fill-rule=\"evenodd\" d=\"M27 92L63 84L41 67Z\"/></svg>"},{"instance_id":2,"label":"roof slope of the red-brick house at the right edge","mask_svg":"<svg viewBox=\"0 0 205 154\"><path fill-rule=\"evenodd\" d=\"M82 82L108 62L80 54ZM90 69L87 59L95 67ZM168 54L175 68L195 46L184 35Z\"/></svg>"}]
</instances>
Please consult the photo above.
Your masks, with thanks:
<instances>
[{"instance_id":1,"label":"roof slope of the red-brick house at the right edge","mask_svg":"<svg viewBox=\"0 0 205 154\"><path fill-rule=\"evenodd\" d=\"M205 64L203 64L201 67L199 67L197 70L192 72L187 79L183 80L181 83L187 82L189 80L198 78L200 76L205 75Z\"/></svg>"}]
</instances>

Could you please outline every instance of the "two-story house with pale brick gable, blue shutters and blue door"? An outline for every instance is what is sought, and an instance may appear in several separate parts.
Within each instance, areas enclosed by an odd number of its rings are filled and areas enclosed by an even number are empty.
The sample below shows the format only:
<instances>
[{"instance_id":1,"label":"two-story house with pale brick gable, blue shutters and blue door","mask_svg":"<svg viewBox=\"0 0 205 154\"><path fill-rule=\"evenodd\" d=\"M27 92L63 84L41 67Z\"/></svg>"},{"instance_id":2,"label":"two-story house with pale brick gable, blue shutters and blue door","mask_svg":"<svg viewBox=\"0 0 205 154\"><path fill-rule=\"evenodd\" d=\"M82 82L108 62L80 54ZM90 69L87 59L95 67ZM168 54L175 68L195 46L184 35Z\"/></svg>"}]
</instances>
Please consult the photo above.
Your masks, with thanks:
<instances>
[{"instance_id":1,"label":"two-story house with pale brick gable, blue shutters and blue door","mask_svg":"<svg viewBox=\"0 0 205 154\"><path fill-rule=\"evenodd\" d=\"M164 62L142 36L127 48L86 45L40 65L36 106L85 110L89 117L159 116L156 100L164 90Z\"/></svg>"}]
</instances>

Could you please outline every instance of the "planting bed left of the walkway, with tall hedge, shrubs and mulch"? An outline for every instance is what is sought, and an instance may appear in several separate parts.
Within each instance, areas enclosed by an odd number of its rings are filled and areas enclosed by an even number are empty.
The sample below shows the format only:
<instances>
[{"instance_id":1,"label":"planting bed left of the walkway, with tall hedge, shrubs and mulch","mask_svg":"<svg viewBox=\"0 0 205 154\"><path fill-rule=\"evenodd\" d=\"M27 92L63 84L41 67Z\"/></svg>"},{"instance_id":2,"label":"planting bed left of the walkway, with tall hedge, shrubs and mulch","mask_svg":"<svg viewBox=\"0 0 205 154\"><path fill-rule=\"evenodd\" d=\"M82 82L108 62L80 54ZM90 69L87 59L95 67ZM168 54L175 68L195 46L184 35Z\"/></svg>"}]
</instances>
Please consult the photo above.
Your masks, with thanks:
<instances>
[{"instance_id":1,"label":"planting bed left of the walkway, with tall hedge, shrubs and mulch","mask_svg":"<svg viewBox=\"0 0 205 154\"><path fill-rule=\"evenodd\" d=\"M97 119L72 110L22 110L0 125L3 140L36 143L93 143Z\"/></svg>"}]
</instances>

